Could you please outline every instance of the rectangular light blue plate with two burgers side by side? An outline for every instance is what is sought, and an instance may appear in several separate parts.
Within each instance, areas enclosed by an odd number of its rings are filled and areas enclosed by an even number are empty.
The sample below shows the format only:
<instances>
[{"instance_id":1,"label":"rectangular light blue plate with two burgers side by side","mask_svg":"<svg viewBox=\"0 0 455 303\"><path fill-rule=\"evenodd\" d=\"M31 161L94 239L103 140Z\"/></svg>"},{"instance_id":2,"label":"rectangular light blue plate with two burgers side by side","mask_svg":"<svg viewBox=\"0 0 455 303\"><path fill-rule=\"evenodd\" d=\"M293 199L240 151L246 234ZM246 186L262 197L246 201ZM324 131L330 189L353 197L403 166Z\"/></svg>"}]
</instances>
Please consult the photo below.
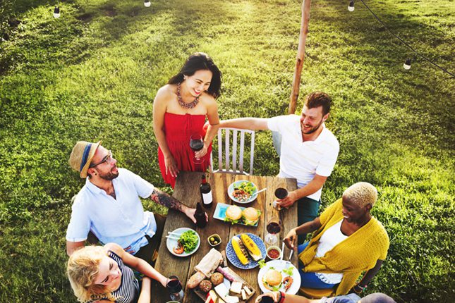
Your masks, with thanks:
<instances>
[{"instance_id":1,"label":"rectangular light blue plate with two burgers side by side","mask_svg":"<svg viewBox=\"0 0 455 303\"><path fill-rule=\"evenodd\" d=\"M229 205L218 203L217 208L213 213L213 218L221 221L226 221L231 224L243 224L248 226L257 226L262 211L254 207L241 207L237 205Z\"/></svg>"}]
</instances>

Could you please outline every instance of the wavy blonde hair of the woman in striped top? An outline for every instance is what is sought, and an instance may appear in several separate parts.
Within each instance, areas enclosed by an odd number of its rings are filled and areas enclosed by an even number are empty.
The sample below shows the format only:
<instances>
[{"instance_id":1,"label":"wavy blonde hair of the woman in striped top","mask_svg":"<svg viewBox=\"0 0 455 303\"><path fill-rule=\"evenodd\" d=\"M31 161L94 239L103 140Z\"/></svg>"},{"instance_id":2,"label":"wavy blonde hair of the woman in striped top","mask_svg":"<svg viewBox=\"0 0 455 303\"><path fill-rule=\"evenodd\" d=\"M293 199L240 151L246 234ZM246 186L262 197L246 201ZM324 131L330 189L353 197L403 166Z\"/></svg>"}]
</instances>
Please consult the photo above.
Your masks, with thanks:
<instances>
[{"instance_id":1,"label":"wavy blonde hair of the woman in striped top","mask_svg":"<svg viewBox=\"0 0 455 303\"><path fill-rule=\"evenodd\" d=\"M66 273L79 302L90 302L97 299L115 301L115 297L107 290L106 285L95 284L99 272L99 264L106 250L101 246L86 246L71 254Z\"/></svg>"}]
</instances>

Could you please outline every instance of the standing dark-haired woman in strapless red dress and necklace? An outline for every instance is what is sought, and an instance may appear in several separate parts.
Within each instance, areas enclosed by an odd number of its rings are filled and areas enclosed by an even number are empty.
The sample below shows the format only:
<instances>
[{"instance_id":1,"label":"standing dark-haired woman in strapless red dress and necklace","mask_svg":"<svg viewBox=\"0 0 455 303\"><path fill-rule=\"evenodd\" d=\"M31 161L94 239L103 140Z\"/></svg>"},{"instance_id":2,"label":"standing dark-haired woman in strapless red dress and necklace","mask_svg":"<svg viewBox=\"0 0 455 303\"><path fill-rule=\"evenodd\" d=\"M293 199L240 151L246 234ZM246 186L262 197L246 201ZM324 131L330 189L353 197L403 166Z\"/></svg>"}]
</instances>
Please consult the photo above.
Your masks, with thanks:
<instances>
[{"instance_id":1,"label":"standing dark-haired woman in strapless red dress and necklace","mask_svg":"<svg viewBox=\"0 0 455 303\"><path fill-rule=\"evenodd\" d=\"M191 55L180 72L161 87L153 102L153 129L157 137L159 168L173 188L179 171L203 171L210 163L212 139L219 128L218 106L222 73L205 53ZM207 132L203 129L209 120ZM201 135L204 147L190 148L190 137ZM199 168L199 169L200 169Z\"/></svg>"}]
</instances>

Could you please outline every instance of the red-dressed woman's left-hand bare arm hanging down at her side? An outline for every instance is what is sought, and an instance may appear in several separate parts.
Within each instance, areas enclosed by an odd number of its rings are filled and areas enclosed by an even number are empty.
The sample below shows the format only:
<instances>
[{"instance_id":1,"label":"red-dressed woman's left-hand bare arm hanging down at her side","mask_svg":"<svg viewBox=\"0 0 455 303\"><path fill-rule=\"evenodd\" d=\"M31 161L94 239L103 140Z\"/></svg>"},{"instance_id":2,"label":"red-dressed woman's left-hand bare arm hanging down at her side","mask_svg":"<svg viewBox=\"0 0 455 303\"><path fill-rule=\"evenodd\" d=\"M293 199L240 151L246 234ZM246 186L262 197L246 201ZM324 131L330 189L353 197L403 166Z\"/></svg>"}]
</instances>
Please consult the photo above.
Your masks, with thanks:
<instances>
[{"instance_id":1,"label":"red-dressed woman's left-hand bare arm hanging down at her side","mask_svg":"<svg viewBox=\"0 0 455 303\"><path fill-rule=\"evenodd\" d=\"M174 157L167 146L166 134L164 133L164 114L166 113L167 101L169 98L171 98L170 92L166 91L164 87L158 90L157 96L153 101L153 132L155 137L157 137L159 148L164 155L166 174L170 173L172 176L176 177L178 168Z\"/></svg>"}]
</instances>

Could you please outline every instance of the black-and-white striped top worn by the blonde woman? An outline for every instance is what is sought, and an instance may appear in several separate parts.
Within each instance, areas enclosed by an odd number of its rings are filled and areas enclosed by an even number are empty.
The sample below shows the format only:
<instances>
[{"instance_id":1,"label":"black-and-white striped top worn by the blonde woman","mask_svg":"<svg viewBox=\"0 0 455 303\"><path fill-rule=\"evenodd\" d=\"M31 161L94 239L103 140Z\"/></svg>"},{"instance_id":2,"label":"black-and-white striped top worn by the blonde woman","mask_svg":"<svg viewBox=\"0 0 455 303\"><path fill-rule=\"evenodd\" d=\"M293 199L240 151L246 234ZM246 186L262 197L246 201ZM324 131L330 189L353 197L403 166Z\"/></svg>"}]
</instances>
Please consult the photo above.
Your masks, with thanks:
<instances>
[{"instance_id":1,"label":"black-and-white striped top worn by the blonde woman","mask_svg":"<svg viewBox=\"0 0 455 303\"><path fill-rule=\"evenodd\" d=\"M117 256L114 252L109 250L108 256L117 262L121 271L121 283L119 288L112 292L112 295L116 298L116 303L131 303L137 302L139 298L139 283L134 276L134 272L131 268L123 263L120 256ZM104 298L107 299L107 298Z\"/></svg>"}]
</instances>

